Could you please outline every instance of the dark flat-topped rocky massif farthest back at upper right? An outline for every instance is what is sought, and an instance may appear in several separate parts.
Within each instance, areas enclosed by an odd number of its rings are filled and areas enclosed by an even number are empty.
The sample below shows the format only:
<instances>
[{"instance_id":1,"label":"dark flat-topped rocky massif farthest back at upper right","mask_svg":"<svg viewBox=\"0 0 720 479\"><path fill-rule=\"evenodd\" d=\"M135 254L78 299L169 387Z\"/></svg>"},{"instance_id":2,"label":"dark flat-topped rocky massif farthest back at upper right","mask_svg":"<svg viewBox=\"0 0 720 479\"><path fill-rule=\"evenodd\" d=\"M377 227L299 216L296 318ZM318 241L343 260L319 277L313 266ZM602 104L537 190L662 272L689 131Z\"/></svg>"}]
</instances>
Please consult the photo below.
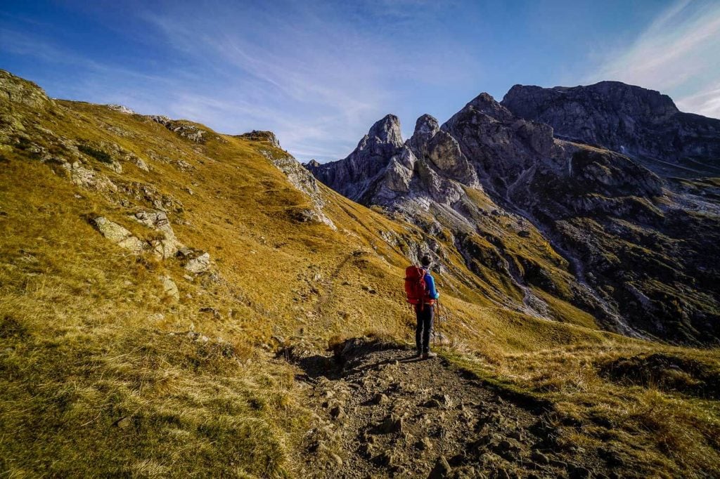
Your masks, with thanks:
<instances>
[{"instance_id":1,"label":"dark flat-topped rocky massif farthest back at upper right","mask_svg":"<svg viewBox=\"0 0 720 479\"><path fill-rule=\"evenodd\" d=\"M684 113L657 91L618 81L516 85L501 104L549 124L559 138L620 152L663 176L720 175L720 119Z\"/></svg>"}]
</instances>

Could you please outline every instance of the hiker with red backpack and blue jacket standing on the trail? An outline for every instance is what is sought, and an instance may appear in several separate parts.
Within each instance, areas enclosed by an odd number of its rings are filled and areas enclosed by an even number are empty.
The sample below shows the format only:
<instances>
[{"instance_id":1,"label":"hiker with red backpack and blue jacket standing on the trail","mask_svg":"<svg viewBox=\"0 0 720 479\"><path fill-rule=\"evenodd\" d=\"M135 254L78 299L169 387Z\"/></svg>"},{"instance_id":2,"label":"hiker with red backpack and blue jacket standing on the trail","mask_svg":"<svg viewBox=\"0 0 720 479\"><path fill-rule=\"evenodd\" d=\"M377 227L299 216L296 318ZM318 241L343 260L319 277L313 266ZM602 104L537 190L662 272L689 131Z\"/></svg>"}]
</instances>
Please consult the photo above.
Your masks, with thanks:
<instances>
[{"instance_id":1,"label":"hiker with red backpack and blue jacket standing on the trail","mask_svg":"<svg viewBox=\"0 0 720 479\"><path fill-rule=\"evenodd\" d=\"M415 317L418 320L415 328L418 357L428 359L437 356L430 351L430 332L435 317L435 301L440 297L440 293L436 291L435 279L430 274L430 257L423 256L420 264L422 266L405 268L405 293L408 294L408 302L415 308Z\"/></svg>"}]
</instances>

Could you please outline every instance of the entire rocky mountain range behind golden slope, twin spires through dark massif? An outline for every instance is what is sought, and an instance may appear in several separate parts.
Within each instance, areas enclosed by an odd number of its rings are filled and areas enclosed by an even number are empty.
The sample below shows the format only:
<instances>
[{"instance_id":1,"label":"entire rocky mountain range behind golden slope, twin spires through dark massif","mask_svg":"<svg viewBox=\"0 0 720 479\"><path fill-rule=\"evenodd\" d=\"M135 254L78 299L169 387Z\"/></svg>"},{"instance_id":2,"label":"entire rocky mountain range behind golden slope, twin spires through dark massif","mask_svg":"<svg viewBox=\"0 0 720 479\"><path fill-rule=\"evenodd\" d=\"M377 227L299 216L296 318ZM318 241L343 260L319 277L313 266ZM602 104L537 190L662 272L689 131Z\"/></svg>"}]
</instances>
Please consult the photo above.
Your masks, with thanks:
<instances>
[{"instance_id":1,"label":"entire rocky mountain range behind golden slope, twin spires through dark massif","mask_svg":"<svg viewBox=\"0 0 720 479\"><path fill-rule=\"evenodd\" d=\"M480 265L498 258L492 268L531 314L552 319L547 296L559 296L612 331L717 344L720 270L707 260L720 257L717 183L665 178L636 158L660 155L665 143L652 135L685 135L693 140L667 144L663 164L680 168L692 152L711 171L720 165L716 124L622 83L515 86L502 103L481 93L439 127L423 115L404 143L388 115L344 160L305 166L348 198L446 232L483 282ZM515 235L524 251L509 247Z\"/></svg>"}]
</instances>

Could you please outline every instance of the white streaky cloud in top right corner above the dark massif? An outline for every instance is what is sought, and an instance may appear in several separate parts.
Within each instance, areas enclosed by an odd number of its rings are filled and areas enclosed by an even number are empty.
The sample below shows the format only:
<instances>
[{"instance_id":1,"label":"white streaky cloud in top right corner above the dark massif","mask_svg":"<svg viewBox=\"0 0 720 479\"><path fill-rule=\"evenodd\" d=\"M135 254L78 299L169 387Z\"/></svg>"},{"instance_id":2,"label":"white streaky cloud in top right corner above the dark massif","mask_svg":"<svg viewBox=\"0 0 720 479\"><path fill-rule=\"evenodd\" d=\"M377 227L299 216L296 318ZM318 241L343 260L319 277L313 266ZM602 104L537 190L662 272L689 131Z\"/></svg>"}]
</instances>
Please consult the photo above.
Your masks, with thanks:
<instances>
[{"instance_id":1,"label":"white streaky cloud in top right corner above the dark massif","mask_svg":"<svg viewBox=\"0 0 720 479\"><path fill-rule=\"evenodd\" d=\"M588 77L669 94L683 111L720 118L720 2L682 0Z\"/></svg>"}]
</instances>

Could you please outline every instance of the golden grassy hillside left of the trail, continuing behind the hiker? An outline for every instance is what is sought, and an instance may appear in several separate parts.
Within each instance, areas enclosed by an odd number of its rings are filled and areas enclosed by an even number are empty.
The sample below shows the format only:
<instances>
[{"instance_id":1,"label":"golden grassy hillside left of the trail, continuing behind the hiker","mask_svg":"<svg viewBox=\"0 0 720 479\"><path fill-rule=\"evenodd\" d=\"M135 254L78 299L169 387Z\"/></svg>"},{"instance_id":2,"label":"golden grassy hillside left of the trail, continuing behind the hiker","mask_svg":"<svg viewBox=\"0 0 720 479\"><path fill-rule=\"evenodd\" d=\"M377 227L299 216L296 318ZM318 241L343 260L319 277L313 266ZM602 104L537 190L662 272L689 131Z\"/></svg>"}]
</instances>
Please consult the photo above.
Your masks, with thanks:
<instances>
[{"instance_id":1,"label":"golden grassy hillside left of the trail, continuing behind the hiker","mask_svg":"<svg viewBox=\"0 0 720 479\"><path fill-rule=\"evenodd\" d=\"M333 335L368 330L408 337L401 286L407 260L379 232L422 233L324 187L325 213L338 231L294 222L294 209L308 200L258 153L266 144L211 133L197 145L145 117L77 102L49 111L8 102L2 108L4 119L21 122L31 142L50 151L57 142L38 127L73 142L117 144L146 160L150 172L122 162L122 173L114 173L84 159L118 185L143 183L181 202L168 212L177 237L210 252L219 277L186 280L176 260L135 257L111 245L87 219L102 214L148 236L153 232L127 218L148 209L148 201L78 188L37 161L32 146L4 147L0 470L292 474L288 452L307 414L292 369L264 351L278 340L323 345ZM179 159L191 170L177 168ZM451 271L467 273L462 258L450 254L448 262ZM471 364L486 375L531 388L534 369L518 358L562 356L568 345L585 345L588 357L651 347L597 331L562 298L552 306L565 323L511 311L503 295L516 291L490 265L482 267L485 282L448 274L439 286L451 292L444 303L454 350L476 358ZM180 301L164 296L159 275L174 278ZM200 311L209 307L217 314ZM191 329L210 341L193 341ZM558 371L560 383L572 383L575 370ZM626 394L624 386L603 384ZM562 388L556 395L559 404L582 404ZM708 424L716 421L714 404L697 406Z\"/></svg>"}]
</instances>

